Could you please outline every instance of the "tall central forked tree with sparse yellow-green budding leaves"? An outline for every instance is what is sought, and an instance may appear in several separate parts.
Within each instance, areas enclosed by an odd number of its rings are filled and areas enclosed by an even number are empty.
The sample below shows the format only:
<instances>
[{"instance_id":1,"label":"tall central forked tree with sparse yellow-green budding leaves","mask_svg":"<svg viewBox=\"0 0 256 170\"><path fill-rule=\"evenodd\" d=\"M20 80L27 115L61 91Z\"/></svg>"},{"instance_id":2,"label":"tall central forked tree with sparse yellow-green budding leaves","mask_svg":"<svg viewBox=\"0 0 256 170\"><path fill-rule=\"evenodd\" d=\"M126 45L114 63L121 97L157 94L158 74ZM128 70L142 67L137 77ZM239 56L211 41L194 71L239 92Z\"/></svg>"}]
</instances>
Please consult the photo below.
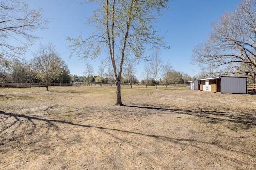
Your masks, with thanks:
<instances>
[{"instance_id":1,"label":"tall central forked tree with sparse yellow-green budding leaves","mask_svg":"<svg viewBox=\"0 0 256 170\"><path fill-rule=\"evenodd\" d=\"M87 2L92 2L88 0ZM107 48L113 66L117 97L116 104L122 105L121 76L124 58L129 57L129 51L138 59L144 59L148 45L165 47L164 36L158 36L155 22L162 15L162 9L168 8L168 0L93 0L98 9L93 11L93 17L88 19L88 25L94 25L96 31L88 38L80 35L70 38L68 46L77 56L95 58ZM117 60L120 59L120 60ZM117 62L119 68L117 67Z\"/></svg>"}]
</instances>

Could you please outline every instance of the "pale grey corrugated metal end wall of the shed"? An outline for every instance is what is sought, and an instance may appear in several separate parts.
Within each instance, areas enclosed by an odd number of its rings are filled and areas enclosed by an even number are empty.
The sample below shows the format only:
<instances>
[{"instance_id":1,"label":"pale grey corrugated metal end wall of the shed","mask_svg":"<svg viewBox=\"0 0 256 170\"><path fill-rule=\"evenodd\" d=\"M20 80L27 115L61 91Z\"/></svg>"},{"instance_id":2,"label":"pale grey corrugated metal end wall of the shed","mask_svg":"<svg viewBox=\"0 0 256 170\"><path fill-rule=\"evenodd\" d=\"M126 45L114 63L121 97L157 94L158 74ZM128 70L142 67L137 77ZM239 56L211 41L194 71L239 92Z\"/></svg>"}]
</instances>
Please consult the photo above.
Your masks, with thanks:
<instances>
[{"instance_id":1,"label":"pale grey corrugated metal end wall of the shed","mask_svg":"<svg viewBox=\"0 0 256 170\"><path fill-rule=\"evenodd\" d=\"M246 93L246 78L221 77L222 93Z\"/></svg>"}]
</instances>

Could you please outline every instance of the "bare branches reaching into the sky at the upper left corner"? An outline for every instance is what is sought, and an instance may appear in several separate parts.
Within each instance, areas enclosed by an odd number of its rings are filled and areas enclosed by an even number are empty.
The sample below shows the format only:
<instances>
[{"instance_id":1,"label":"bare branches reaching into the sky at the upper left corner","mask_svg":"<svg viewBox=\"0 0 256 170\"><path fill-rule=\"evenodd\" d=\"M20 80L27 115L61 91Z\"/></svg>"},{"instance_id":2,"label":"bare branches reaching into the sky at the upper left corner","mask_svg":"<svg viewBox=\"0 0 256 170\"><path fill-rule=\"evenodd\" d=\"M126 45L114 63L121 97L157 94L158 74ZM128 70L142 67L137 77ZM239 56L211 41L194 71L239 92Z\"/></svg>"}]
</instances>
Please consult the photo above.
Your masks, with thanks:
<instances>
[{"instance_id":1,"label":"bare branches reaching into the sky at the upper left corner","mask_svg":"<svg viewBox=\"0 0 256 170\"><path fill-rule=\"evenodd\" d=\"M13 59L40 38L32 32L47 29L50 20L42 16L41 8L29 10L20 0L1 0L0 9L0 53Z\"/></svg>"}]
</instances>

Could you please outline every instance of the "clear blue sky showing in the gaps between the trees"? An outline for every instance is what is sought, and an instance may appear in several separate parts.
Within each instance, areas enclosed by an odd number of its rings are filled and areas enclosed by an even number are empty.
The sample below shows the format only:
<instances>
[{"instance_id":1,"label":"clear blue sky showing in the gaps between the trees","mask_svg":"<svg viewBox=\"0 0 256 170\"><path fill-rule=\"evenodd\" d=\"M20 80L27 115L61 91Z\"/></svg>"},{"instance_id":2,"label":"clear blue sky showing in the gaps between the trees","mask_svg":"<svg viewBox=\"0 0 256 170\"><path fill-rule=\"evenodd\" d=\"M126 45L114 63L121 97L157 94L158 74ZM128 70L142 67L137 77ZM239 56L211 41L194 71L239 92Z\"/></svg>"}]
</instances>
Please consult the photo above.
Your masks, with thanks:
<instances>
[{"instance_id":1,"label":"clear blue sky showing in the gaps between the trees","mask_svg":"<svg viewBox=\"0 0 256 170\"><path fill-rule=\"evenodd\" d=\"M163 16L156 23L160 35L166 31L170 49L162 49L161 57L164 61L169 59L174 70L187 73L190 76L198 74L197 66L190 63L192 49L204 41L210 33L212 21L227 11L233 11L241 0L173 0L169 2L170 10L164 10ZM84 62L73 56L69 58L70 51L66 49L69 42L66 37L77 37L82 31L83 36L89 36L91 28L85 27L84 16L91 16L92 3L77 4L74 0L26 0L30 9L41 7L47 18L52 18L45 31L35 31L35 35L43 37L36 41L26 53L26 58L32 57L32 52L38 50L39 43L52 42L56 45L62 59L68 64L71 74L84 75ZM151 53L149 52L148 55ZM102 58L104 58L102 56ZM91 61L94 65L94 74L97 74L100 58ZM137 66L136 77L141 80L144 63ZM106 70L105 70L106 71Z\"/></svg>"}]
</instances>

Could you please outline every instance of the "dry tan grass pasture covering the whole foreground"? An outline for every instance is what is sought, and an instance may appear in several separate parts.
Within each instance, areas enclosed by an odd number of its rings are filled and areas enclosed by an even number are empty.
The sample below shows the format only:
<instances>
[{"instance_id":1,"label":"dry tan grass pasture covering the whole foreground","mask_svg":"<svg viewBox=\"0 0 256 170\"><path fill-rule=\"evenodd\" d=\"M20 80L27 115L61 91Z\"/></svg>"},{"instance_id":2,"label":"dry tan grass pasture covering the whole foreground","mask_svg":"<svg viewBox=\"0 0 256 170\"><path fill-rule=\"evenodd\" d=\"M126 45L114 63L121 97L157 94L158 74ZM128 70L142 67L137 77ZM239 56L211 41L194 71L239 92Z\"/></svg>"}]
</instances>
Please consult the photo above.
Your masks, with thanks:
<instances>
[{"instance_id":1,"label":"dry tan grass pasture covering the whole foreground","mask_svg":"<svg viewBox=\"0 0 256 170\"><path fill-rule=\"evenodd\" d=\"M1 170L248 170L256 95L182 87L0 89Z\"/></svg>"}]
</instances>

